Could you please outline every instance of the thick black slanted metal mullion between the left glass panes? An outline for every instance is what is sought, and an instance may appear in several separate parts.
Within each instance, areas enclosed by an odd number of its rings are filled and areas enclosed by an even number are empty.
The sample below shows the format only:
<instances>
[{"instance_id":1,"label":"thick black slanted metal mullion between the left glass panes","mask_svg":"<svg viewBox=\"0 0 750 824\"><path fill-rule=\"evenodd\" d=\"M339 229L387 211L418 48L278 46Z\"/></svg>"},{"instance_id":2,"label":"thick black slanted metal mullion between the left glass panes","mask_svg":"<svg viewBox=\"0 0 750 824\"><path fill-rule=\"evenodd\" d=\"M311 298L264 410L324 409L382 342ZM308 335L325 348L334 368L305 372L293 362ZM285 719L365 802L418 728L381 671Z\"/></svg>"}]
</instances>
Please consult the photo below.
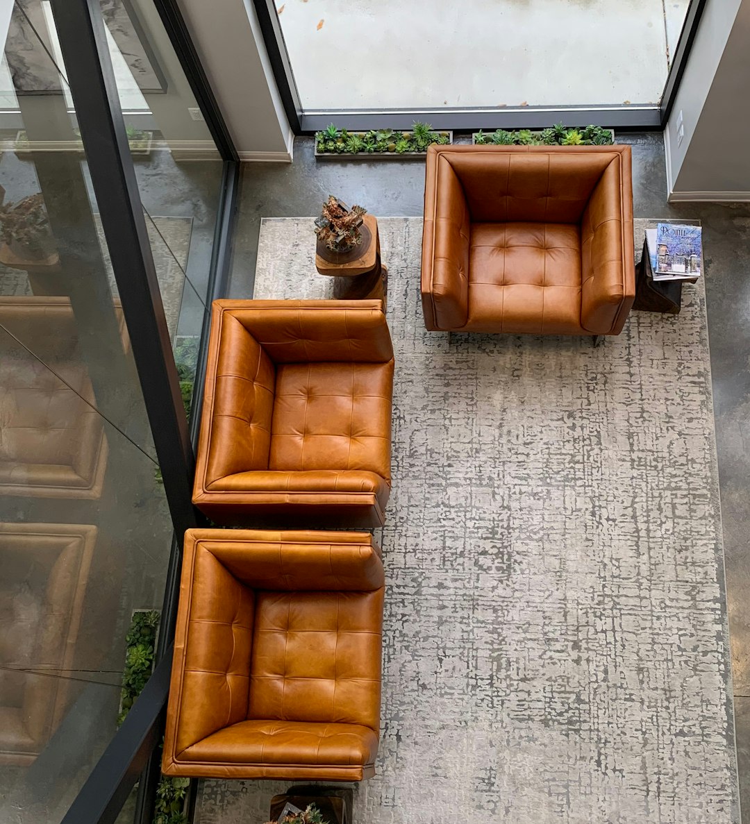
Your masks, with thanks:
<instances>
[{"instance_id":1,"label":"thick black slanted metal mullion between the left glass panes","mask_svg":"<svg viewBox=\"0 0 750 824\"><path fill-rule=\"evenodd\" d=\"M51 0L166 499L178 536L203 522L171 339L98 0Z\"/></svg>"}]
</instances>

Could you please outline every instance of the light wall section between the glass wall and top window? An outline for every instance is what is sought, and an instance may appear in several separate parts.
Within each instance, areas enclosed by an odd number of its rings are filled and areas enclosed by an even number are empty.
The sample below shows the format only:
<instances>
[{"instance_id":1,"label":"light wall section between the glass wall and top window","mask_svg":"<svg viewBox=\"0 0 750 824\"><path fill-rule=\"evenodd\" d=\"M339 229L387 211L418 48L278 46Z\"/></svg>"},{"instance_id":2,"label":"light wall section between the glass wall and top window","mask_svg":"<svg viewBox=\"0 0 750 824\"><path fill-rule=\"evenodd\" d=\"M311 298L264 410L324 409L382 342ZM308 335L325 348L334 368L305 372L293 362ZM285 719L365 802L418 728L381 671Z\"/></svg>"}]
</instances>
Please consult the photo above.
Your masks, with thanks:
<instances>
[{"instance_id":1,"label":"light wall section between the glass wall and top window","mask_svg":"<svg viewBox=\"0 0 750 824\"><path fill-rule=\"evenodd\" d=\"M293 133L252 0L179 0L242 160L290 161Z\"/></svg>"}]
</instances>

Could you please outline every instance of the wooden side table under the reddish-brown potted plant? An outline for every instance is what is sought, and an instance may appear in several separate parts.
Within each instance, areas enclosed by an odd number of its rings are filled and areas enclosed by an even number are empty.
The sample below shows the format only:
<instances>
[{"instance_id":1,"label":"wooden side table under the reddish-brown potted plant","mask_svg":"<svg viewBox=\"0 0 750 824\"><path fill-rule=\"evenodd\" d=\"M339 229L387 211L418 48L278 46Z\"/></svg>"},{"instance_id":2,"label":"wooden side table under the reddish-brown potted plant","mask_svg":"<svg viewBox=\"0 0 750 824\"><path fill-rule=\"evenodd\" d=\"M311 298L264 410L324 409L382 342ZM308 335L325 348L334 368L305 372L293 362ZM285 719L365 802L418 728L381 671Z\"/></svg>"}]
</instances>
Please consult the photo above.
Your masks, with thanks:
<instances>
[{"instance_id":1,"label":"wooden side table under the reddish-brown potted plant","mask_svg":"<svg viewBox=\"0 0 750 824\"><path fill-rule=\"evenodd\" d=\"M340 300L375 298L386 305L388 270L380 257L377 218L363 216L362 243L348 252L335 252L322 243L316 246L315 266L320 274L335 278L334 297Z\"/></svg>"}]
</instances>

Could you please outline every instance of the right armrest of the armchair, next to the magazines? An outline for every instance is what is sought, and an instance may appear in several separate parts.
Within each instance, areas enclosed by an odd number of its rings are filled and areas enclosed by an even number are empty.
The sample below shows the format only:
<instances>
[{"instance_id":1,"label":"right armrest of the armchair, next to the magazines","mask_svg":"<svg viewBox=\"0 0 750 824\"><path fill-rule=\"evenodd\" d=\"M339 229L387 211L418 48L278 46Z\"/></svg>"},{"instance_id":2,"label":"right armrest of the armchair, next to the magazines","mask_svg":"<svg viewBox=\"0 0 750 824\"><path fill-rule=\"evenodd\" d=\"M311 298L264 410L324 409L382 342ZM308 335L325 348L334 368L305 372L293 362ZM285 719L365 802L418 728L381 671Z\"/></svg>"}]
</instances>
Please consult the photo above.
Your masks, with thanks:
<instances>
[{"instance_id":1,"label":"right armrest of the armchair, next to the magazines","mask_svg":"<svg viewBox=\"0 0 750 824\"><path fill-rule=\"evenodd\" d=\"M581 221L581 325L618 335L635 298L630 147L607 166Z\"/></svg>"}]
</instances>

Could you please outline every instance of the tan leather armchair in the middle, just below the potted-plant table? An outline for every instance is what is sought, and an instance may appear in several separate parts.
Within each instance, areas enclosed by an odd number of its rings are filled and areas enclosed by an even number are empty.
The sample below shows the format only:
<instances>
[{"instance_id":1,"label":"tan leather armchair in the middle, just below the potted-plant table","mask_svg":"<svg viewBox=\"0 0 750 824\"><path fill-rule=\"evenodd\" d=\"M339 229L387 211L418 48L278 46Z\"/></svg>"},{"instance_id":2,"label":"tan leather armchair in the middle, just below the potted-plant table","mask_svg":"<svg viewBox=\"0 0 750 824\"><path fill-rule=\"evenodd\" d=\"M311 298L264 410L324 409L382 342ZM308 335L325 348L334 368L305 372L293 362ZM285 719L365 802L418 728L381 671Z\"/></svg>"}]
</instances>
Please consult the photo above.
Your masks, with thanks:
<instances>
[{"instance_id":1,"label":"tan leather armchair in the middle, just below the potted-plant table","mask_svg":"<svg viewBox=\"0 0 750 824\"><path fill-rule=\"evenodd\" d=\"M193 501L231 526L375 527L391 489L381 301L213 303Z\"/></svg>"}]
</instances>

